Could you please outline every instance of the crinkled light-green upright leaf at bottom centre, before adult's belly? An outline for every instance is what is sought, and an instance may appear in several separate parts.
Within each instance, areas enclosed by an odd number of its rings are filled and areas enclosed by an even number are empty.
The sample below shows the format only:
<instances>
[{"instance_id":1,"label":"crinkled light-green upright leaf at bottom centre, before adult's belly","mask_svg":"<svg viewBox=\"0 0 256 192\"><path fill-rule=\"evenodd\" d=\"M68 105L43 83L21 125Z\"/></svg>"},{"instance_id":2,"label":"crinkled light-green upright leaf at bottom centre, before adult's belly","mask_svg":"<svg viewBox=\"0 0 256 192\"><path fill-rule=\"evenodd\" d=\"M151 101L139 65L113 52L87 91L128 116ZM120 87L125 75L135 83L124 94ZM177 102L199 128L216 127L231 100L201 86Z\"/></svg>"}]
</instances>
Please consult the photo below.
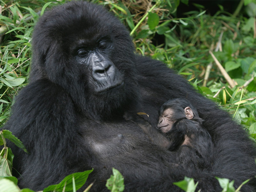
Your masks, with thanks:
<instances>
[{"instance_id":1,"label":"crinkled light-green upright leaf at bottom centre, before adult's belly","mask_svg":"<svg viewBox=\"0 0 256 192\"><path fill-rule=\"evenodd\" d=\"M113 175L107 180L106 187L111 190L111 192L122 192L124 191L124 177L115 168L112 168Z\"/></svg>"}]
</instances>

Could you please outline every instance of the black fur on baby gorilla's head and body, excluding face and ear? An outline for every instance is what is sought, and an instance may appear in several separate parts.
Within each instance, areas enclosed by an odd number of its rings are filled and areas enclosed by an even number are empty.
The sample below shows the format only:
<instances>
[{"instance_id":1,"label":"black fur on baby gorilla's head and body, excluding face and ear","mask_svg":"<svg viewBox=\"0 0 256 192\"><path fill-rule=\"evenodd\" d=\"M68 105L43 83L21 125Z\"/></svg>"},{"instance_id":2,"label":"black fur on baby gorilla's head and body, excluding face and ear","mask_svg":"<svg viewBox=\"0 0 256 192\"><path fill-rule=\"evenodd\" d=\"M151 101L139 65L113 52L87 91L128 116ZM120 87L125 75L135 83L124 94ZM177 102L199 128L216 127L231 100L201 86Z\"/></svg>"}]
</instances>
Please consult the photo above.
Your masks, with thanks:
<instances>
[{"instance_id":1,"label":"black fur on baby gorilla's head and body, excluding face and ear","mask_svg":"<svg viewBox=\"0 0 256 192\"><path fill-rule=\"evenodd\" d=\"M187 119L184 109L190 107L194 117ZM171 145L169 150L177 150L177 161L187 169L208 169L211 167L213 143L211 135L203 127L203 119L198 115L196 108L187 99L172 99L161 107L160 113L166 108L171 108L171 116L176 122L172 129L166 133ZM184 144L185 135L187 141Z\"/></svg>"}]
</instances>

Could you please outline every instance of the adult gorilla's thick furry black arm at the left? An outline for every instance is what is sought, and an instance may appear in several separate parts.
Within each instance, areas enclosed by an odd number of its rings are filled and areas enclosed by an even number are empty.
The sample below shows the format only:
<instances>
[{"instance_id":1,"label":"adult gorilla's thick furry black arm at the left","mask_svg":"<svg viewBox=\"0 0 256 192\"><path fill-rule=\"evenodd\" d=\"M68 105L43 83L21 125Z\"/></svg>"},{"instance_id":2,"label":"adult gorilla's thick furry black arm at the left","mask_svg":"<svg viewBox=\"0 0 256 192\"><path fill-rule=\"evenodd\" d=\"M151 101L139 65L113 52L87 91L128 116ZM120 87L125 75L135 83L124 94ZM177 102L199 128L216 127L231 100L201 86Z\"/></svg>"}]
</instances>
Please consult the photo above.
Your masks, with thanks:
<instances>
[{"instance_id":1,"label":"adult gorilla's thick furry black arm at the left","mask_svg":"<svg viewBox=\"0 0 256 192\"><path fill-rule=\"evenodd\" d=\"M13 167L22 174L20 187L43 189L62 180L62 175L91 168L79 163L83 141L73 134L77 132L75 109L60 86L48 80L31 82L16 97L12 111L4 129L12 131L29 152L8 143L15 154ZM14 169L13 173L19 176Z\"/></svg>"}]
</instances>

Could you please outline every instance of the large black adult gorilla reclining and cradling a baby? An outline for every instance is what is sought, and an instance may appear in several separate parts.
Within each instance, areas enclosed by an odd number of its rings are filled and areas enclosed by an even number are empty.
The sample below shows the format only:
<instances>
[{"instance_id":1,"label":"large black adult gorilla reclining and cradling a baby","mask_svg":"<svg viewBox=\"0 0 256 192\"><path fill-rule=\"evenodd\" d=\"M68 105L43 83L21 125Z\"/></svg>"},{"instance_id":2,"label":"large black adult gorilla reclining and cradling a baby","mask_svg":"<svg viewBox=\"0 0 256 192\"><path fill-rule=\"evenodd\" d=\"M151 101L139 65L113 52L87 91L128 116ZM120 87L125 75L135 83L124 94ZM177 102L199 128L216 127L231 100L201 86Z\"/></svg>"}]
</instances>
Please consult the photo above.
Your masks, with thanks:
<instances>
[{"instance_id":1,"label":"large black adult gorilla reclining and cradling a baby","mask_svg":"<svg viewBox=\"0 0 256 192\"><path fill-rule=\"evenodd\" d=\"M212 167L188 172L175 152L154 145L125 111L146 112L156 124L161 105L186 97L205 119ZM115 167L126 191L181 191L184 176L202 191L220 191L214 176L236 187L256 175L255 146L241 126L164 64L136 56L128 31L102 7L73 1L44 13L33 34L30 83L16 98L4 127L29 151L12 147L20 187L42 190L64 176L94 168L87 185L106 191ZM252 180L251 180L252 181ZM255 183L244 191L255 191Z\"/></svg>"}]
</instances>

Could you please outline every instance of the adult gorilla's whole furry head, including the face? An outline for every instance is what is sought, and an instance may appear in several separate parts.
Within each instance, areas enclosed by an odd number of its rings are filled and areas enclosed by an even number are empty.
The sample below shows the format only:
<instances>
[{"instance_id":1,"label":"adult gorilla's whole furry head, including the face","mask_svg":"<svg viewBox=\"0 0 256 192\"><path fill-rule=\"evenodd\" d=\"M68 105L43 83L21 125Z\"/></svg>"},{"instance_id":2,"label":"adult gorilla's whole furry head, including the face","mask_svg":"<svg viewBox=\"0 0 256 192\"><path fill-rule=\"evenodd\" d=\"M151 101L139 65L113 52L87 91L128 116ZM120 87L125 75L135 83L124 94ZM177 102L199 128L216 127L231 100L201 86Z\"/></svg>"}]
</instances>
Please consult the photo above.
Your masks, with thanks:
<instances>
[{"instance_id":1,"label":"adult gorilla's whole furry head, including the face","mask_svg":"<svg viewBox=\"0 0 256 192\"><path fill-rule=\"evenodd\" d=\"M85 1L56 7L39 19L33 38L30 79L45 77L59 84L78 113L106 120L135 105L134 45L126 28L105 9Z\"/></svg>"}]
</instances>

